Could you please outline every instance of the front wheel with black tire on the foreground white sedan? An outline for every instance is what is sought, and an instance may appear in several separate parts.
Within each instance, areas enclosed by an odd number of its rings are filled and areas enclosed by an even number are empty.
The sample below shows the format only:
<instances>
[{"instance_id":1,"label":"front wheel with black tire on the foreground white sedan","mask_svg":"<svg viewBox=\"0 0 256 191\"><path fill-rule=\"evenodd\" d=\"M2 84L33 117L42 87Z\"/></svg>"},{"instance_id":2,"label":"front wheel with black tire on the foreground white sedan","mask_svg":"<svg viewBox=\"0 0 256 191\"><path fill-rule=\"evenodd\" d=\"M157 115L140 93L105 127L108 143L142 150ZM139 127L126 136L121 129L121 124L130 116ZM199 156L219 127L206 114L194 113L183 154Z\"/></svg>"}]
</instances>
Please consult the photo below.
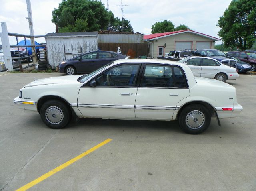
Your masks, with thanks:
<instances>
[{"instance_id":1,"label":"front wheel with black tire on the foreground white sedan","mask_svg":"<svg viewBox=\"0 0 256 191\"><path fill-rule=\"evenodd\" d=\"M40 116L48 127L62 129L70 122L71 112L64 102L49 100L42 105Z\"/></svg>"}]
</instances>

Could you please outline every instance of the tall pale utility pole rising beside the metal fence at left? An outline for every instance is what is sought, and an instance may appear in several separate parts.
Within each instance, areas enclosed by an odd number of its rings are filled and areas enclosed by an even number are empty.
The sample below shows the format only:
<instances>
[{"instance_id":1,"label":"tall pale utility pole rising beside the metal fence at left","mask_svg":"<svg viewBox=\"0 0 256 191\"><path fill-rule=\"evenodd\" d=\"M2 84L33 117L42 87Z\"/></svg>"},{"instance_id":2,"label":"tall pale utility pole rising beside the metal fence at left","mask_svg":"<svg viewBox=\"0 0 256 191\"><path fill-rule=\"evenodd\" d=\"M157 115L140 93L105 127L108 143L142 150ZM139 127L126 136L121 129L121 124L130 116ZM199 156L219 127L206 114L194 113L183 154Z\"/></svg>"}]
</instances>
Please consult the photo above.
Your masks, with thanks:
<instances>
[{"instance_id":1,"label":"tall pale utility pole rising beside the metal fence at left","mask_svg":"<svg viewBox=\"0 0 256 191\"><path fill-rule=\"evenodd\" d=\"M30 32L30 41L32 47L32 55L33 55L33 64L36 63L36 48L35 48L35 37L34 37L34 28L33 28L33 20L32 20L32 11L31 11L31 3L30 0L27 0L27 9L28 9L28 24L29 24L29 32Z\"/></svg>"}]
</instances>

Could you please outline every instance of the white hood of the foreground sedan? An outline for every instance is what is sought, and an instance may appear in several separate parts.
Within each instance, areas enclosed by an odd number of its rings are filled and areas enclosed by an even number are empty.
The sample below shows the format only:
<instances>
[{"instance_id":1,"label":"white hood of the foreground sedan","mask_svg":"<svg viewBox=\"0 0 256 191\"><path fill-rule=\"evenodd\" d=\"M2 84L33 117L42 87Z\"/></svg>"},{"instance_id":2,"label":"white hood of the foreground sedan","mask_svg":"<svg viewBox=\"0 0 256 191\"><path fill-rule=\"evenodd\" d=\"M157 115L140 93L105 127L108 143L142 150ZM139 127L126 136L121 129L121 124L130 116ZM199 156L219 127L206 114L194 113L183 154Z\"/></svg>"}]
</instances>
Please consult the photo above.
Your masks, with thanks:
<instances>
[{"instance_id":1,"label":"white hood of the foreground sedan","mask_svg":"<svg viewBox=\"0 0 256 191\"><path fill-rule=\"evenodd\" d=\"M25 85L26 87L39 86L39 85L48 85L48 84L62 84L62 83L78 83L77 79L83 75L71 75L71 76L60 76L52 78L44 78L30 82Z\"/></svg>"}]
</instances>

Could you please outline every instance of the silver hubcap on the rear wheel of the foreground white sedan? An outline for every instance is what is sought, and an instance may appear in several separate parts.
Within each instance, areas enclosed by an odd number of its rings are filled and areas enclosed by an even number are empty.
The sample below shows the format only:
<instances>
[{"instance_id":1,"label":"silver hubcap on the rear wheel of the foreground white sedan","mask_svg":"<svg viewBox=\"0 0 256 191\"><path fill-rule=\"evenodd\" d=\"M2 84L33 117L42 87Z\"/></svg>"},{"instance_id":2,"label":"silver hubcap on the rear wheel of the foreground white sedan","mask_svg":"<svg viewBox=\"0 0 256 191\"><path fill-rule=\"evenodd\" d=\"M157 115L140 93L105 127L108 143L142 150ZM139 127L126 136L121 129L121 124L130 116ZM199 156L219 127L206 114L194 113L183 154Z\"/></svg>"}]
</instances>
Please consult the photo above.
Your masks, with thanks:
<instances>
[{"instance_id":1,"label":"silver hubcap on the rear wheel of the foreground white sedan","mask_svg":"<svg viewBox=\"0 0 256 191\"><path fill-rule=\"evenodd\" d=\"M198 129L204 125L204 114L198 110L189 112L186 116L186 125L191 129Z\"/></svg>"}]
</instances>

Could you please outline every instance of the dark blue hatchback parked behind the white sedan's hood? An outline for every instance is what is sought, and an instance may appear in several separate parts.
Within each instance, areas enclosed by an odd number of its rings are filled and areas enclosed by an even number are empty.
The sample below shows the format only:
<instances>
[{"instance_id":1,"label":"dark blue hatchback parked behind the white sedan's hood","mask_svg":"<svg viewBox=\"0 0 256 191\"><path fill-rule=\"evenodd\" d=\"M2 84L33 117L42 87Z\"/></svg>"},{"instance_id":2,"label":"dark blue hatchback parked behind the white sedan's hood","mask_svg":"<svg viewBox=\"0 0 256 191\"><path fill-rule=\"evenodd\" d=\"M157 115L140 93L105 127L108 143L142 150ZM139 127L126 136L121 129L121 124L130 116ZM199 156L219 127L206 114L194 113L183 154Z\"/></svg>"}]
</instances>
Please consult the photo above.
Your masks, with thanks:
<instances>
[{"instance_id":1,"label":"dark blue hatchback parked behind the white sedan's hood","mask_svg":"<svg viewBox=\"0 0 256 191\"><path fill-rule=\"evenodd\" d=\"M60 63L60 73L67 75L88 74L100 67L119 59L127 59L128 56L112 51L88 52ZM115 75L122 74L123 70L117 68L113 71Z\"/></svg>"}]
</instances>

